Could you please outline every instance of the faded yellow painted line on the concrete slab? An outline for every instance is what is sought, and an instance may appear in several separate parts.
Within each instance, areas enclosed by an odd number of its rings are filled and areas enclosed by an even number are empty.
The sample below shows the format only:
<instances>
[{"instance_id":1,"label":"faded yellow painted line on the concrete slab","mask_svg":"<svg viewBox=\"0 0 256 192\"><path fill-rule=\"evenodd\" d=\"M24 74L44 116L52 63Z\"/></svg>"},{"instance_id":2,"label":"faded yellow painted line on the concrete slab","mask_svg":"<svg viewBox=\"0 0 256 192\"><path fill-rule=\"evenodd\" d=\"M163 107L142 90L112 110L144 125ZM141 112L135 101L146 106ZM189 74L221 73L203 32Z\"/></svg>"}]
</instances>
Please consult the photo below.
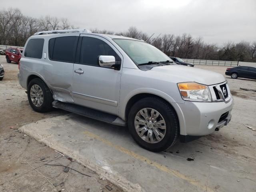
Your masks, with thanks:
<instances>
[{"instance_id":1,"label":"faded yellow painted line on the concrete slab","mask_svg":"<svg viewBox=\"0 0 256 192\"><path fill-rule=\"evenodd\" d=\"M184 174L181 174L180 172L176 171L176 170L173 170L173 169L170 169L170 168L167 168L166 166L162 166L161 164L157 163L157 162L154 162L154 161L151 161L150 159L142 156L142 155L139 155L139 154L136 154L124 147L121 147L121 146L118 146L118 145L115 145L113 144L112 142L104 139L104 138L101 138L100 136L96 135L96 134L93 134L92 132L89 132L89 131L84 131L84 134L86 134L87 136L91 137L91 138L94 138L94 139L97 139L101 142L104 142L105 144L107 144L108 146L111 146L111 147L114 147L116 148L117 150L125 153L125 154L128 154L129 156L132 156L133 158L136 158L142 162L146 162L147 164L151 165L151 166L154 166L156 168L158 168L159 170L161 171L164 171L166 173L169 173L169 174L172 174L174 176L176 176L177 178L180 178L180 179L183 179L187 182L189 182L190 184L198 187L198 188L201 188L202 190L204 191L207 191L207 192L214 192L211 188L209 188L208 186L204 186L202 184L200 184L200 182L196 181L196 180L193 180L193 179L190 179L188 178L188 176L184 175Z\"/></svg>"}]
</instances>

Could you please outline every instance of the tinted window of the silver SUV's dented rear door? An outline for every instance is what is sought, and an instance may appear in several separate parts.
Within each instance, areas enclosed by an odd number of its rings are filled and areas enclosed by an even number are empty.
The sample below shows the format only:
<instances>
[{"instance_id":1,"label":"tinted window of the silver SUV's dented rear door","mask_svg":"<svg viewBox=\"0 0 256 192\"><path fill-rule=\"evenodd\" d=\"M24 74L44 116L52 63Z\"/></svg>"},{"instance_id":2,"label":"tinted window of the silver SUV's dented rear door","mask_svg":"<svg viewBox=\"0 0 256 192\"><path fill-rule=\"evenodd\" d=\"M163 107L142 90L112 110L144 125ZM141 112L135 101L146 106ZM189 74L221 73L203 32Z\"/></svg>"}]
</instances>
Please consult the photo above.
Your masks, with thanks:
<instances>
[{"instance_id":1,"label":"tinted window of the silver SUV's dented rear door","mask_svg":"<svg viewBox=\"0 0 256 192\"><path fill-rule=\"evenodd\" d=\"M50 59L63 62L74 62L77 40L77 36L67 36L50 39Z\"/></svg>"}]
</instances>

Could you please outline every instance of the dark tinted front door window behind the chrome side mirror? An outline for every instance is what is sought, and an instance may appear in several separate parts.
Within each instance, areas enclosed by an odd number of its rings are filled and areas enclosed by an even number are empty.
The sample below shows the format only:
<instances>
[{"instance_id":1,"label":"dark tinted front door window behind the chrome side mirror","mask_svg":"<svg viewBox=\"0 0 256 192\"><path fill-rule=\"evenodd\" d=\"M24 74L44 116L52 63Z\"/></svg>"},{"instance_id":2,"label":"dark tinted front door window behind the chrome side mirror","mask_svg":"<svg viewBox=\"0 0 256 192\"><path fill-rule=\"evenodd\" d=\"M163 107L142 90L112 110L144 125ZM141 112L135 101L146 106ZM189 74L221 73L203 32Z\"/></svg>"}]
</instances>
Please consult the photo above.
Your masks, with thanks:
<instances>
[{"instance_id":1,"label":"dark tinted front door window behind the chrome side mirror","mask_svg":"<svg viewBox=\"0 0 256 192\"><path fill-rule=\"evenodd\" d=\"M100 55L111 55L116 58L116 61L121 60L116 52L104 41L92 37L83 37L80 51L80 63L99 66L98 56Z\"/></svg>"}]
</instances>

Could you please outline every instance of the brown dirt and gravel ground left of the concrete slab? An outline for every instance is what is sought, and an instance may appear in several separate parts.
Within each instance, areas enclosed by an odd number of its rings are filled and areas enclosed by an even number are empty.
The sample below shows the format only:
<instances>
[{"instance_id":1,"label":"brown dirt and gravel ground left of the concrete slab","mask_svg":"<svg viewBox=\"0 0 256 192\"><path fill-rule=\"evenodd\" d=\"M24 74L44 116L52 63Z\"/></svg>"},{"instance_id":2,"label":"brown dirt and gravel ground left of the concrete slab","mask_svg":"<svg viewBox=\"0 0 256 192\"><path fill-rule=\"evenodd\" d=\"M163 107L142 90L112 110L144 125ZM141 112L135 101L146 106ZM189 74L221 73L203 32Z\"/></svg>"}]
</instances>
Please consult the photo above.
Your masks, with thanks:
<instances>
[{"instance_id":1,"label":"brown dirt and gravel ground left of the concrete slab","mask_svg":"<svg viewBox=\"0 0 256 192\"><path fill-rule=\"evenodd\" d=\"M4 65L5 77L0 82L0 191L27 192L27 191L79 191L79 192L106 192L110 186L113 192L122 189L111 184L108 180L96 174L76 161L54 152L44 144L18 132L23 124L36 122L68 114L62 110L53 110L48 113L37 113L30 108L25 90L18 83L18 65L8 64L4 56L0 56L0 63ZM44 159L44 160L41 160ZM32 167L36 168L48 180L39 176ZM62 166L46 166L57 164L69 166L74 170L64 172Z\"/></svg>"}]
</instances>

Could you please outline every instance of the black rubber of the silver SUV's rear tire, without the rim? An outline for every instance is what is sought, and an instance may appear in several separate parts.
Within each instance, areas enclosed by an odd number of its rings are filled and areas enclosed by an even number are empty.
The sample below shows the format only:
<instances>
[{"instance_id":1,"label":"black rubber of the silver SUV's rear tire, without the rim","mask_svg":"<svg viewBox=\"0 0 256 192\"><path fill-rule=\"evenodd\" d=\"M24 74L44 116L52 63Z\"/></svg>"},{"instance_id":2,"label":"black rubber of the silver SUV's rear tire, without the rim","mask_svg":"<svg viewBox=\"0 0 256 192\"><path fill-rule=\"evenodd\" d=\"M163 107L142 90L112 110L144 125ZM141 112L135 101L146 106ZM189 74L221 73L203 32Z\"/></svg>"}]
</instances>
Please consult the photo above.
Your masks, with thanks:
<instances>
[{"instance_id":1,"label":"black rubber of the silver SUV's rear tire, without the rim","mask_svg":"<svg viewBox=\"0 0 256 192\"><path fill-rule=\"evenodd\" d=\"M33 104L31 97L30 97L30 90L33 85L38 85L42 92L43 92L43 102L41 106L36 106ZM36 112L48 112L52 110L52 93L50 92L50 89L48 86L40 79L40 78L34 78L32 79L28 84L28 102L30 106L35 110Z\"/></svg>"}]
</instances>

